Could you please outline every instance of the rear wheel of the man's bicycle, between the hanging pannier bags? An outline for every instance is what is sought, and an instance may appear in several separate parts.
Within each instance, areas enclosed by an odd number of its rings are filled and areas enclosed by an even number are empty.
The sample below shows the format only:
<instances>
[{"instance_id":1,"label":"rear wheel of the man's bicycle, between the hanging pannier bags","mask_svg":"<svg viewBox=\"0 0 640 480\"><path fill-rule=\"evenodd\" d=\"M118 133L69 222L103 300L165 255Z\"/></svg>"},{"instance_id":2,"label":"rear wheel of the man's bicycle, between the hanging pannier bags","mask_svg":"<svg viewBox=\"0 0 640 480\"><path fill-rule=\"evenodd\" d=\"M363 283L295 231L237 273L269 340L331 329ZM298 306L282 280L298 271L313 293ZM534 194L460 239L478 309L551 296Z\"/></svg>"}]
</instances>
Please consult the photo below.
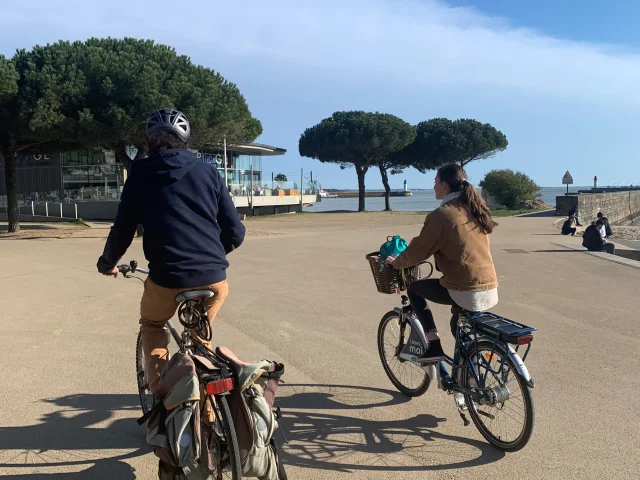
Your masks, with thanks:
<instances>
[{"instance_id":1,"label":"rear wheel of the man's bicycle, between the hanging pannier bags","mask_svg":"<svg viewBox=\"0 0 640 480\"><path fill-rule=\"evenodd\" d=\"M202 428L209 434L208 448L215 463L213 478L240 480L242 479L240 449L227 399L225 396L216 396L214 399L207 395L207 401L213 407L215 421L213 424L204 420L201 423Z\"/></svg>"}]
</instances>

